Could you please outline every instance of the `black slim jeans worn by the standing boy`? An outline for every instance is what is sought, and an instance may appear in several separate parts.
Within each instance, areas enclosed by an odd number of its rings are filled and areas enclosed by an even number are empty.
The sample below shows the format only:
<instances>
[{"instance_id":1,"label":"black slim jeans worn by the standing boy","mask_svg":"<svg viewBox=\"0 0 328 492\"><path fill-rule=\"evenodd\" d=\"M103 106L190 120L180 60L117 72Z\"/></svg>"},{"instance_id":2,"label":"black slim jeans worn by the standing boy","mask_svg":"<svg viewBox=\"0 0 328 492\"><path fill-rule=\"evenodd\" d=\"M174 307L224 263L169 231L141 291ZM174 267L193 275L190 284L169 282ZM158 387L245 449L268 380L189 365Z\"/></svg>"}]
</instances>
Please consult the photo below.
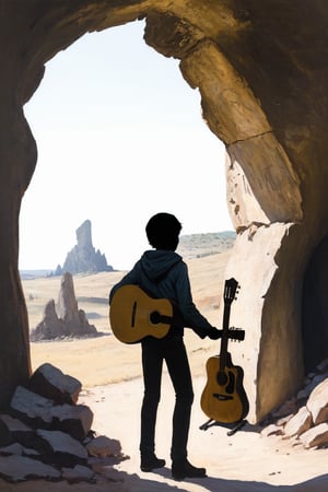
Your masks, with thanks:
<instances>
[{"instance_id":1,"label":"black slim jeans worn by the standing boy","mask_svg":"<svg viewBox=\"0 0 328 492\"><path fill-rule=\"evenodd\" d=\"M144 395L141 408L140 452L147 454L154 453L155 449L156 414L165 361L175 390L171 458L185 459L194 390L184 339L180 335L168 333L160 340L149 337L141 344Z\"/></svg>"}]
</instances>

